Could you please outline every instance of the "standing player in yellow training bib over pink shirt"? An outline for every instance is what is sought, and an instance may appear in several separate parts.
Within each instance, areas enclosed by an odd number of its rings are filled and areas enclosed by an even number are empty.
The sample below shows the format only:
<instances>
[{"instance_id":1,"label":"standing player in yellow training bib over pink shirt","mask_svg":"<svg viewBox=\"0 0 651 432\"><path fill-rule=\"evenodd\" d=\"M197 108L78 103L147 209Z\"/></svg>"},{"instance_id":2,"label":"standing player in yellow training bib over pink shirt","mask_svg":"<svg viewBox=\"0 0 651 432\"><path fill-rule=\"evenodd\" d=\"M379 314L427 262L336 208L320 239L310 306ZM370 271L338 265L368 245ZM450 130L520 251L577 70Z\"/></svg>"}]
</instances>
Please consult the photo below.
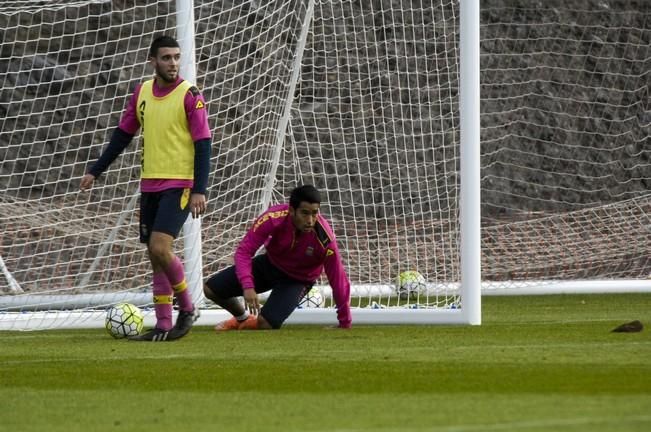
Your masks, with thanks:
<instances>
[{"instance_id":1,"label":"standing player in yellow training bib over pink shirt","mask_svg":"<svg viewBox=\"0 0 651 432\"><path fill-rule=\"evenodd\" d=\"M140 241L147 245L153 269L156 326L132 340L179 339L198 317L172 243L190 212L196 218L206 210L211 134L206 102L179 76L180 59L174 38L161 36L152 42L154 79L136 87L108 146L80 182L82 191L91 188L141 129ZM175 324L174 297L179 306Z\"/></svg>"}]
</instances>

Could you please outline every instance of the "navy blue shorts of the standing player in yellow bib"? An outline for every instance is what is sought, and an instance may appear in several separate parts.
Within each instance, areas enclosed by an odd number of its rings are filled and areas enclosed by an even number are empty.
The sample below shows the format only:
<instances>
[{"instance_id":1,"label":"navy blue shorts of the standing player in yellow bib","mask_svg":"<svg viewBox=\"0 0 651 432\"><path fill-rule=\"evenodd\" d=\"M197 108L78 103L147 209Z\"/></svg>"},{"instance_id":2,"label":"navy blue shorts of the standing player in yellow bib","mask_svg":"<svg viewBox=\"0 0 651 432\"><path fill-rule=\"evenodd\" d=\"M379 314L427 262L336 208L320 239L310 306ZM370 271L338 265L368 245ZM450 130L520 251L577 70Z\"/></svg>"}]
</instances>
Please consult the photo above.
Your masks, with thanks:
<instances>
[{"instance_id":1,"label":"navy blue shorts of the standing player in yellow bib","mask_svg":"<svg viewBox=\"0 0 651 432\"><path fill-rule=\"evenodd\" d=\"M190 214L190 189L176 188L140 195L140 242L154 231L176 238Z\"/></svg>"}]
</instances>

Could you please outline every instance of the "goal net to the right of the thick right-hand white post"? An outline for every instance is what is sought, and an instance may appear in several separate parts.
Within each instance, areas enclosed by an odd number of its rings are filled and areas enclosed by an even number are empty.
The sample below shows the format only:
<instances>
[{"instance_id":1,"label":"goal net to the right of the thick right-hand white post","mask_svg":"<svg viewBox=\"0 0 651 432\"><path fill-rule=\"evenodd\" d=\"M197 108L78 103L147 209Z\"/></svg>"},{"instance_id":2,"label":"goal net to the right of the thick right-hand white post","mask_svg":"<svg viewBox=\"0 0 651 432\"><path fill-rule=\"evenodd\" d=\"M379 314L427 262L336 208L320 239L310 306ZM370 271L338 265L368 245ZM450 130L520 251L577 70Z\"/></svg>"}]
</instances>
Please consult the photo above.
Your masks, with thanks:
<instances>
[{"instance_id":1,"label":"goal net to the right of the thick right-hand white post","mask_svg":"<svg viewBox=\"0 0 651 432\"><path fill-rule=\"evenodd\" d=\"M484 292L648 292L651 4L489 0L481 21Z\"/></svg>"}]
</instances>

